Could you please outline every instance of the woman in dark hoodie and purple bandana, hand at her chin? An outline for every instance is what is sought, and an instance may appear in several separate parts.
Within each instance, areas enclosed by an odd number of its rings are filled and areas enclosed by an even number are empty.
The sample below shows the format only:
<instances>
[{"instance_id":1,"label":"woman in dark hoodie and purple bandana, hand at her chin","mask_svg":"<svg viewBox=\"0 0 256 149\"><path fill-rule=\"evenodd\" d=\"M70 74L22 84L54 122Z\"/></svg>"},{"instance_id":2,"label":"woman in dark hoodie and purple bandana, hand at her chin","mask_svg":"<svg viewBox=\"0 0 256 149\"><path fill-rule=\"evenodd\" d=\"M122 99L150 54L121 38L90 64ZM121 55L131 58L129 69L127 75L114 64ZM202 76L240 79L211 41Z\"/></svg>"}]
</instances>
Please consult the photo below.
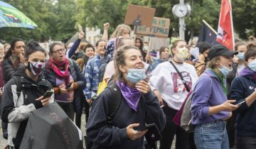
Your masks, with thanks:
<instances>
[{"instance_id":1,"label":"woman in dark hoodie and purple bandana, hand at her chin","mask_svg":"<svg viewBox=\"0 0 256 149\"><path fill-rule=\"evenodd\" d=\"M93 101L87 123L87 136L97 148L144 148L146 131L139 131L145 123L155 123L159 131L165 126L166 116L156 96L144 80L143 57L134 46L124 46L114 53L114 89L106 88ZM114 93L121 99L114 99ZM113 98L113 99L112 99ZM119 108L108 121L112 100L119 100ZM111 114L112 115L112 114Z\"/></svg>"}]
</instances>

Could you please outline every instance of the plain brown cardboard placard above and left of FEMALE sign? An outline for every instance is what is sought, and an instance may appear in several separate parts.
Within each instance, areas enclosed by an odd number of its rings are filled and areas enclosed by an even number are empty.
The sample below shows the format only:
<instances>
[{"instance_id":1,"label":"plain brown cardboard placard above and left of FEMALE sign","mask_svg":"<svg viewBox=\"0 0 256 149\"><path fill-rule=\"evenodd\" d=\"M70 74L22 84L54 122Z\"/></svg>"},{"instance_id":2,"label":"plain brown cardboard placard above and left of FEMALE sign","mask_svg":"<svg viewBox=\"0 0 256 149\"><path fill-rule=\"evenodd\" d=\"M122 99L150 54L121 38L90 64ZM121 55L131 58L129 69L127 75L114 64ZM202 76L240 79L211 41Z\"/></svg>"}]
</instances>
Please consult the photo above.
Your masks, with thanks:
<instances>
[{"instance_id":1,"label":"plain brown cardboard placard above and left of FEMALE sign","mask_svg":"<svg viewBox=\"0 0 256 149\"><path fill-rule=\"evenodd\" d=\"M129 4L125 15L125 24L151 27L156 9Z\"/></svg>"}]
</instances>

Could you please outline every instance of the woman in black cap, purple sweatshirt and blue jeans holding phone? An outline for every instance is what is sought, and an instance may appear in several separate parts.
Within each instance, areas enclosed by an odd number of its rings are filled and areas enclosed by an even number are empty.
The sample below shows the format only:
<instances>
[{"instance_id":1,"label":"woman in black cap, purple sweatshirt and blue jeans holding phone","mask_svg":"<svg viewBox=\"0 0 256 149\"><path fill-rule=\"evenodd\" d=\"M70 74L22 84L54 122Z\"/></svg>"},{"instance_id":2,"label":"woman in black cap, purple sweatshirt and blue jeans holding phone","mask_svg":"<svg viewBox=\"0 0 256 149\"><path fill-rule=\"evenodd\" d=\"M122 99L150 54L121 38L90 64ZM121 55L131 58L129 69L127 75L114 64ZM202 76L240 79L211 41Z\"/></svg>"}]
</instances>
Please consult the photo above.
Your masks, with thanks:
<instances>
[{"instance_id":1,"label":"woman in black cap, purple sweatshirt and blue jeans holding phone","mask_svg":"<svg viewBox=\"0 0 256 149\"><path fill-rule=\"evenodd\" d=\"M229 149L226 122L238 106L228 100L225 78L232 71L233 56L223 45L214 45L208 53L208 68L199 77L192 94L191 114L196 148Z\"/></svg>"}]
</instances>

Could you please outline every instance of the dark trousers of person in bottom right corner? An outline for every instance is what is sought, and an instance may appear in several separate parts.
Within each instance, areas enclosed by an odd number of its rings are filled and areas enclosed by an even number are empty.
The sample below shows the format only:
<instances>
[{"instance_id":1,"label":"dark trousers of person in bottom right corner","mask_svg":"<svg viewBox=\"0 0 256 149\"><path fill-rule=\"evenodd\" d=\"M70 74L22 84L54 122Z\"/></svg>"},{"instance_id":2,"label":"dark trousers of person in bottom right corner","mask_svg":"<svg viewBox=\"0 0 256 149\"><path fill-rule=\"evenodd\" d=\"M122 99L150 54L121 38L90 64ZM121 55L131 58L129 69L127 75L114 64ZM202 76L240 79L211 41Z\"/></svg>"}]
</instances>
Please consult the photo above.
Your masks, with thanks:
<instances>
[{"instance_id":1,"label":"dark trousers of person in bottom right corner","mask_svg":"<svg viewBox=\"0 0 256 149\"><path fill-rule=\"evenodd\" d=\"M237 149L252 149L256 148L256 137L238 137L236 136Z\"/></svg>"}]
</instances>

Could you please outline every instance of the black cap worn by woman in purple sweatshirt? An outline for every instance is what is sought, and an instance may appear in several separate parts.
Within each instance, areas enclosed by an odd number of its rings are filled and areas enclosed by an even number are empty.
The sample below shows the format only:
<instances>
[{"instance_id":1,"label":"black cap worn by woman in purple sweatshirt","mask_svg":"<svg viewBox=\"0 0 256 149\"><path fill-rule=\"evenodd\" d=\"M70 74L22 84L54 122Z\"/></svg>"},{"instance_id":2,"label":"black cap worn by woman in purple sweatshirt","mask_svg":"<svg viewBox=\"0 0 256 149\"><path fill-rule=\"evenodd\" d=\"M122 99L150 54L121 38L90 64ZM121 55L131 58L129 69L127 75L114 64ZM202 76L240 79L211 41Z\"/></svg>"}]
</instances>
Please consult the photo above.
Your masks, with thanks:
<instances>
[{"instance_id":1,"label":"black cap worn by woman in purple sweatshirt","mask_svg":"<svg viewBox=\"0 0 256 149\"><path fill-rule=\"evenodd\" d=\"M238 52L228 50L224 45L213 45L209 50L208 58L213 60L214 57L218 57L220 55L233 57L237 54Z\"/></svg>"}]
</instances>

